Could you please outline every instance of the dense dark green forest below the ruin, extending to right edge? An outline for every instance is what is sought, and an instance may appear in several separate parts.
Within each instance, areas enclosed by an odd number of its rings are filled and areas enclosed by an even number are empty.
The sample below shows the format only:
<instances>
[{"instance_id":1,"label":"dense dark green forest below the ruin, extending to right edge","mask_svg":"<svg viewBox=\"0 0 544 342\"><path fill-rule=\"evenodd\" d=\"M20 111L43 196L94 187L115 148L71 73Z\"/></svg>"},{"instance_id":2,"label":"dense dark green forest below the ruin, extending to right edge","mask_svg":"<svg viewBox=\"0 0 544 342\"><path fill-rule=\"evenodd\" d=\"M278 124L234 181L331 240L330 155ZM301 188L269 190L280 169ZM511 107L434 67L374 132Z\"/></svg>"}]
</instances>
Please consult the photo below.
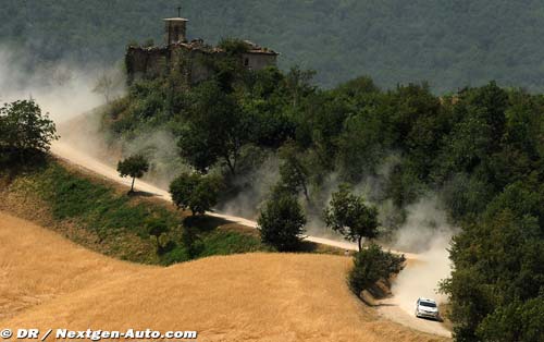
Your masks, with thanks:
<instances>
[{"instance_id":1,"label":"dense dark green forest below the ruin, extending to right edge","mask_svg":"<svg viewBox=\"0 0 544 342\"><path fill-rule=\"evenodd\" d=\"M364 195L380 210L388 203L403 212L436 193L461 228L450 246L455 269L441 285L457 340L539 341L544 96L491 82L437 97L424 83L384 90L368 77L320 89L312 76L296 68L248 71L233 59L190 89L175 74L143 80L111 103L104 124L128 139L170 132L184 162L221 176L226 196L244 192L243 181L263 164L273 172L272 156L275 187L298 194L309 215L322 212L332 174L353 186L373 176L380 191ZM404 219L381 217L382 233Z\"/></svg>"}]
</instances>

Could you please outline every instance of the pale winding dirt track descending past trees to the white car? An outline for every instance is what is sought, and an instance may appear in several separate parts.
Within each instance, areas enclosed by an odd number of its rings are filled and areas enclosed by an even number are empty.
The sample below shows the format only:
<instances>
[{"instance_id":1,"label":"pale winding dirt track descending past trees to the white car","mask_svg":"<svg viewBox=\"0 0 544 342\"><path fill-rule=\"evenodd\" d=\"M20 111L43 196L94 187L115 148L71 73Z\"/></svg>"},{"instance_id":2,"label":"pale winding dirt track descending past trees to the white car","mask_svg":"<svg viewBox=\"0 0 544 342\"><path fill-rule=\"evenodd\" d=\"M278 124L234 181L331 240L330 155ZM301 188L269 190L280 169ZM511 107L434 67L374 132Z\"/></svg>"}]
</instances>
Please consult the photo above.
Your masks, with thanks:
<instances>
[{"instance_id":1,"label":"pale winding dirt track descending past trees to the white car","mask_svg":"<svg viewBox=\"0 0 544 342\"><path fill-rule=\"evenodd\" d=\"M121 184L124 184L126 186L131 186L131 180L128 179L123 179L119 176L118 172L110 166L91 158L87 156L85 152L75 149L74 147L70 146L66 143L63 142L57 142L52 146L52 152L58 156L61 159L67 160L72 163L75 163L84 169L90 170L92 172L96 172L98 174L101 174L102 176L119 182ZM137 181L135 184L135 188L137 191L146 192L156 195L159 198L162 198L164 200L171 201L172 198L170 194L162 190L159 188L154 185L151 185L149 183L143 182L143 181ZM207 215L212 216L212 217L218 217L222 218L232 222L236 222L239 224L244 224L247 227L256 228L257 222L247 220L244 218L239 217L234 217L230 215L223 215L223 213L218 213L218 212L207 212ZM357 245L355 243L349 243L349 242L343 242L343 241L335 241L331 239L324 239L324 237L318 237L318 236L307 236L307 241L311 241L314 243L323 244L323 245L329 245L329 246L334 246L334 247L339 247L344 249L349 249L349 251L357 251ZM404 253L405 256L410 259L410 260L418 260L417 262L409 262L406 269L401 272L403 273L411 273L411 272L418 272L418 269L424 268L426 265L426 268L429 268L428 262L432 262L432 260L426 260L425 258L421 258L417 254L406 254ZM418 291L418 289L415 289ZM411 306L407 304L406 298L401 301L398 296L395 296L395 286L393 288L393 293L394 295L387 300L384 300L380 303L378 306L378 312L380 313L381 316L386 317L387 319L394 320L398 323L401 323L404 326L410 327L412 329L417 329L423 332L428 333L433 333L436 335L441 337L452 337L450 331L448 331L444 326L442 326L440 322L436 321L430 321L430 320L424 320L424 319L418 319L413 317L413 313L411 313ZM420 295L421 293L413 293L412 294L416 298Z\"/></svg>"}]
</instances>

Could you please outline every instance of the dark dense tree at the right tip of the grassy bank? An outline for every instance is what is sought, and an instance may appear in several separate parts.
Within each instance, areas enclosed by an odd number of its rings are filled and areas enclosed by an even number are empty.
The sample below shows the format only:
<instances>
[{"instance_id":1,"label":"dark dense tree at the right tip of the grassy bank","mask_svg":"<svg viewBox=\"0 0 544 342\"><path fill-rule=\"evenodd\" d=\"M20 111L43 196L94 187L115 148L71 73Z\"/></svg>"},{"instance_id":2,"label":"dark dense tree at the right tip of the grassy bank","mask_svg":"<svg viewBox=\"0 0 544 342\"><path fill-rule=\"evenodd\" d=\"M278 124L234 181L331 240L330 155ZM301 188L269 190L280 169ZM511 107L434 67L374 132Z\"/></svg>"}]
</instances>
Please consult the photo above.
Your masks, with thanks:
<instances>
[{"instance_id":1,"label":"dark dense tree at the right tip of the grassy bank","mask_svg":"<svg viewBox=\"0 0 544 342\"><path fill-rule=\"evenodd\" d=\"M305 232L306 217L295 196L275 192L257 223L263 243L280 252L296 251Z\"/></svg>"}]
</instances>

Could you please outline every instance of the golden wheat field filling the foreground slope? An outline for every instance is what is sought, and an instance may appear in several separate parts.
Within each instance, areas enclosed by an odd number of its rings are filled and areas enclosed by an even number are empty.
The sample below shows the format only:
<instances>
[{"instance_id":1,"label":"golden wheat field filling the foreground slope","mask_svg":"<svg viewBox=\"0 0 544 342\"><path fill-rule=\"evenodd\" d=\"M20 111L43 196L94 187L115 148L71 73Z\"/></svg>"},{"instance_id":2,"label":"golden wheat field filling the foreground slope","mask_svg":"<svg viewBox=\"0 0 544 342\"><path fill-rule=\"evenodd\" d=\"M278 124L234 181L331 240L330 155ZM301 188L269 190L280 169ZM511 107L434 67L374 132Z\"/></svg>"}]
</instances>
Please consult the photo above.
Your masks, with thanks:
<instances>
[{"instance_id":1,"label":"golden wheat field filling the foreground slope","mask_svg":"<svg viewBox=\"0 0 544 342\"><path fill-rule=\"evenodd\" d=\"M210 257L169 268L86 251L0 212L0 328L196 330L198 341L442 341L380 318L350 259Z\"/></svg>"}]
</instances>

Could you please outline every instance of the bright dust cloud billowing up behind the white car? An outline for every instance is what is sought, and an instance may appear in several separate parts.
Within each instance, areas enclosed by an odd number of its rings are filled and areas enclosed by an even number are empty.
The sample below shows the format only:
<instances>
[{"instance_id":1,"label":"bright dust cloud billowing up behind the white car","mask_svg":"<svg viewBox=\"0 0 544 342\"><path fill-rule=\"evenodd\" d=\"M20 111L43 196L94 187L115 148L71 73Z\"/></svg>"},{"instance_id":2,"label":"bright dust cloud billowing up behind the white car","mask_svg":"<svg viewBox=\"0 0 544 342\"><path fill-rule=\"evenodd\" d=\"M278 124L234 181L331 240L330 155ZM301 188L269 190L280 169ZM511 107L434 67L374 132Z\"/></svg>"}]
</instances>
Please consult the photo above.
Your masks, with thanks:
<instances>
[{"instance_id":1,"label":"bright dust cloud billowing up behind the white car","mask_svg":"<svg viewBox=\"0 0 544 342\"><path fill-rule=\"evenodd\" d=\"M380 242L384 248L401 251L416 257L393 282L394 298L391 302L413 315L418 297L434 298L438 303L447 301L446 296L437 293L437 288L440 281L450 276L452 266L447 249L458 229L449 223L436 193L429 193L405 208L397 207L391 198L386 198L384 185L393 168L399 162L399 155L391 152L376 168L375 174L363 176L362 181L354 186L354 192L378 207L379 220L388 233ZM338 184L337 174L331 174L325 180L321 190L320 207L326 206ZM322 208L308 215L308 234L345 241L342 235L325 228Z\"/></svg>"}]
</instances>

